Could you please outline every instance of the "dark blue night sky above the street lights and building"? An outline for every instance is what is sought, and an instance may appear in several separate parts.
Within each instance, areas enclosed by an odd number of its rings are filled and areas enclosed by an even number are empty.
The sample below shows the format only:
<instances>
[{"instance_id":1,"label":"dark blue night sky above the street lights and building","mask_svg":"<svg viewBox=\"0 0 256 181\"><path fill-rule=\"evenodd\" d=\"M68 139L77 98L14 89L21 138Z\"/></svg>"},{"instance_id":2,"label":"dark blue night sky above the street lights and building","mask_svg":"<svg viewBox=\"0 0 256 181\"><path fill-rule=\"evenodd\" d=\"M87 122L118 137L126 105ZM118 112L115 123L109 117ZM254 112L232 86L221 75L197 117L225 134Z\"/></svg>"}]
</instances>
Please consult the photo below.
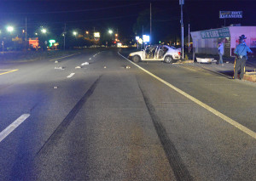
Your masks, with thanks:
<instances>
[{"instance_id":1,"label":"dark blue night sky above the street lights and building","mask_svg":"<svg viewBox=\"0 0 256 181\"><path fill-rule=\"evenodd\" d=\"M107 31L109 28L119 31L119 36L133 37L135 31L149 33L149 3L152 3L154 39L179 37L180 5L178 0L166 1L0 1L0 30L6 25L14 25L16 30L25 29L32 35L40 25L47 27L51 33L61 35L64 24L67 31ZM256 25L256 1L201 1L185 0L183 6L184 35L190 31L219 28L224 20L218 18L220 10L242 11L242 19L227 19L226 25ZM139 14L143 14L144 25L134 28Z\"/></svg>"}]
</instances>

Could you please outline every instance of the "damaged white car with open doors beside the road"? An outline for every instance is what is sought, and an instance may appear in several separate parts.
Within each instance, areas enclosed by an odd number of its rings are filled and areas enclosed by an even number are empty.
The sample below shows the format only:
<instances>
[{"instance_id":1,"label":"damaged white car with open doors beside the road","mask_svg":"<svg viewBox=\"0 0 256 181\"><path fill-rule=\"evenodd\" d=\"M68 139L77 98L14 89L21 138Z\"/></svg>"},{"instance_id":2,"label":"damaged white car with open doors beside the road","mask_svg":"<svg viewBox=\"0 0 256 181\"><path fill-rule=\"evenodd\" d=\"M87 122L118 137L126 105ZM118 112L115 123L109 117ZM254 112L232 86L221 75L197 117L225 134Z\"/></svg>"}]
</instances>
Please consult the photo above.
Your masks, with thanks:
<instances>
[{"instance_id":1,"label":"damaged white car with open doors beside the road","mask_svg":"<svg viewBox=\"0 0 256 181\"><path fill-rule=\"evenodd\" d=\"M181 59L181 51L166 45L148 45L144 50L129 54L128 58L135 63L139 61L165 61L170 64Z\"/></svg>"}]
</instances>

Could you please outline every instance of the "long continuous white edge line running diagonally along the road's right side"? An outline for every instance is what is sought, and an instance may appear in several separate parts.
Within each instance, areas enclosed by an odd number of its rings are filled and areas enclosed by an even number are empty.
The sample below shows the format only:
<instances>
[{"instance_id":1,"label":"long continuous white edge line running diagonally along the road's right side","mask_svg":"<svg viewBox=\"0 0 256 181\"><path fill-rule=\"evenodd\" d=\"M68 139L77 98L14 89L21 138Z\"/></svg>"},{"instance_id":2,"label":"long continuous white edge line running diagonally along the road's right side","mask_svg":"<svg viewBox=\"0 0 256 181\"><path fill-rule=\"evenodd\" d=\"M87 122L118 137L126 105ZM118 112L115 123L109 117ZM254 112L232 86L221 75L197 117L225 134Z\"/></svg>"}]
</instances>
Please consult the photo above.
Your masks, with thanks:
<instances>
[{"instance_id":1,"label":"long continuous white edge line running diagonally along the road's right side","mask_svg":"<svg viewBox=\"0 0 256 181\"><path fill-rule=\"evenodd\" d=\"M118 53L119 54L119 53ZM122 56L123 58L125 58L122 54L119 54L120 56ZM198 99L195 99L193 96L189 95L188 93L183 92L181 89L176 88L175 86L173 86L171 83L164 81L163 79L161 79L158 76L155 76L154 74L152 74L151 72L143 69L143 67L135 64L134 62L132 62L130 59L125 58L126 60L130 61L131 64L136 65L139 69L141 69L142 71L145 71L146 73L148 73L148 75L153 76L155 79L159 80L160 82L163 82L164 84L166 84L166 86L168 86L169 88L172 88L173 90L177 91L177 93L181 93L183 96L185 96L186 98L192 100L193 102L195 102L197 105L201 105L203 108L209 110L210 112L212 112L214 115L220 117L221 119L223 119L225 122L229 122L232 126L240 129L243 133L247 133L248 135L250 135L251 137L253 137L253 139L256 139L256 133L253 132L252 130L250 130L247 127L242 126L240 123L232 120L230 117L225 116L224 114L222 114L221 112L219 112L218 110L214 110L212 107L210 107L207 104L204 104L203 102L201 102Z\"/></svg>"}]
</instances>

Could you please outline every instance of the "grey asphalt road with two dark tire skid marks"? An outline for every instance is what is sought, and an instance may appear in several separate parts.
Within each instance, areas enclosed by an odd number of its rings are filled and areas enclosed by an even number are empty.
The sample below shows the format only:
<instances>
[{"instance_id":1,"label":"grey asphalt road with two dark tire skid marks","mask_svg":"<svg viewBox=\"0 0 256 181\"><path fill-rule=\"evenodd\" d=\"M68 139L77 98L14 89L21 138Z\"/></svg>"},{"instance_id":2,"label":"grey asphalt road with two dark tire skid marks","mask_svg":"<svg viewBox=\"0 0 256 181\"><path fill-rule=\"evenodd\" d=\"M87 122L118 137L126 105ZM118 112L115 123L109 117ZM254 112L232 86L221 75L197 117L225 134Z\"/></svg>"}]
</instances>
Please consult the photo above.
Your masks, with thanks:
<instances>
[{"instance_id":1,"label":"grey asphalt road with two dark tire skid marks","mask_svg":"<svg viewBox=\"0 0 256 181\"><path fill-rule=\"evenodd\" d=\"M256 180L254 83L118 51L0 65L0 180Z\"/></svg>"}]
</instances>

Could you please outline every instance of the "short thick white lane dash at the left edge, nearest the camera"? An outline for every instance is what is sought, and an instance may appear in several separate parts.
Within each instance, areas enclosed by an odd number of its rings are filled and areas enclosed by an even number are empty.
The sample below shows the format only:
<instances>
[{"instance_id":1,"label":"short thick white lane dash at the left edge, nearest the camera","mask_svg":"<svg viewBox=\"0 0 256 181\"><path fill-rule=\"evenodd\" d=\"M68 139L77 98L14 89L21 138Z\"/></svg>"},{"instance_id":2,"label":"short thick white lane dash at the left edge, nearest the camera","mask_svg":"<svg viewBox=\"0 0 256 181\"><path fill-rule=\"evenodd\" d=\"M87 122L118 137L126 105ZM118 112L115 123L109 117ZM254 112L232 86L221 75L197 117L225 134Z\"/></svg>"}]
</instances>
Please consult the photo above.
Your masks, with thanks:
<instances>
[{"instance_id":1,"label":"short thick white lane dash at the left edge, nearest the camera","mask_svg":"<svg viewBox=\"0 0 256 181\"><path fill-rule=\"evenodd\" d=\"M6 127L1 133L0 133L0 142L5 139L9 133L12 133L16 127L19 127L22 122L26 120L27 117L29 117L30 114L24 114L21 115L18 119L15 120L15 122L11 123L9 127Z\"/></svg>"}]
</instances>

